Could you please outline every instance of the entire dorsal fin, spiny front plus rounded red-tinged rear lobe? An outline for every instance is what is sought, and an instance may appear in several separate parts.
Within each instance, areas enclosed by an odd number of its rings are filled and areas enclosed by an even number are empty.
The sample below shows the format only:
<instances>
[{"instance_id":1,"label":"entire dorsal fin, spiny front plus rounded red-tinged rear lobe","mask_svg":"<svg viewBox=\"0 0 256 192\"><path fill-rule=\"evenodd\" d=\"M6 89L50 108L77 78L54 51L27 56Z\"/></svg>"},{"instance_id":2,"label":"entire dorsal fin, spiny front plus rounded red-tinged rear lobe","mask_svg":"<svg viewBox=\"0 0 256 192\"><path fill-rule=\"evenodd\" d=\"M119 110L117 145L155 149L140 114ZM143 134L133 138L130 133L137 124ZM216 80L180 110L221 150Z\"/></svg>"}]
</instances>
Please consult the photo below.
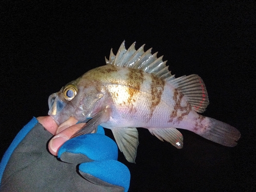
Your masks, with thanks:
<instances>
[{"instance_id":1,"label":"entire dorsal fin, spiny front plus rounded red-tinged rear lobe","mask_svg":"<svg viewBox=\"0 0 256 192\"><path fill-rule=\"evenodd\" d=\"M134 42L126 50L124 42L122 42L116 55L111 49L109 60L105 58L106 65L140 69L146 73L154 74L181 91L194 111L198 113L205 111L209 100L204 82L198 75L175 78L175 75L172 75L166 66L167 61L162 60L163 56L157 57L157 52L152 55L152 48L144 52L145 45L143 45L136 50L136 42Z\"/></svg>"}]
</instances>

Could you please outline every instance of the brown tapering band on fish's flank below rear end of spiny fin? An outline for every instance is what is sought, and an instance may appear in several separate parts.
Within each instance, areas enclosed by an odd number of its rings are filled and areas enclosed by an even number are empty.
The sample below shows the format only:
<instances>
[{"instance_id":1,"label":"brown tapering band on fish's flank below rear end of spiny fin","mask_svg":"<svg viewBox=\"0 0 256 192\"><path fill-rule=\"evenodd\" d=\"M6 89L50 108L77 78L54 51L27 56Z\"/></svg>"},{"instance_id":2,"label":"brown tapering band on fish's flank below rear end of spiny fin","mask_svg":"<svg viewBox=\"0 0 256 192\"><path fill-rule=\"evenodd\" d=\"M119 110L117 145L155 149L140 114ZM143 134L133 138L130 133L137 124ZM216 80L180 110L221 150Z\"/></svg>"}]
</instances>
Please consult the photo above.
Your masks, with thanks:
<instances>
[{"instance_id":1,"label":"brown tapering band on fish's flank below rear end of spiny fin","mask_svg":"<svg viewBox=\"0 0 256 192\"><path fill-rule=\"evenodd\" d=\"M164 90L164 80L156 77L155 75L151 75L152 81L151 81L151 108L150 108L150 117L149 119L152 118L153 112L156 109L156 106L160 103L161 101L161 95Z\"/></svg>"}]
</instances>

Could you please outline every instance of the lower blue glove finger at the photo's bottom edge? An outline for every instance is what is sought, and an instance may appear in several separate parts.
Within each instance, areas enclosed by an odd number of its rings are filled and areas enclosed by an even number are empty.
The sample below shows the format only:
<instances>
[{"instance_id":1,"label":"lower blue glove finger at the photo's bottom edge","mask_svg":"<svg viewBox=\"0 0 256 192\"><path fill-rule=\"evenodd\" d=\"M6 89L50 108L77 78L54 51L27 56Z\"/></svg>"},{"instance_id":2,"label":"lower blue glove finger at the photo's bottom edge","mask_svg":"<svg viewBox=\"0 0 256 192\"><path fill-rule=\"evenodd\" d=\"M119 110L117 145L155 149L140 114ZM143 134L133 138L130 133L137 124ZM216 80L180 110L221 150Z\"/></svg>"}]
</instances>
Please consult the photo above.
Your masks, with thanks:
<instances>
[{"instance_id":1,"label":"lower blue glove finger at the photo's bottom edge","mask_svg":"<svg viewBox=\"0 0 256 192\"><path fill-rule=\"evenodd\" d=\"M82 163L79 165L80 174L92 183L101 186L114 185L115 188L129 189L131 174L129 169L119 161L105 160ZM112 190L117 191L117 190Z\"/></svg>"}]
</instances>

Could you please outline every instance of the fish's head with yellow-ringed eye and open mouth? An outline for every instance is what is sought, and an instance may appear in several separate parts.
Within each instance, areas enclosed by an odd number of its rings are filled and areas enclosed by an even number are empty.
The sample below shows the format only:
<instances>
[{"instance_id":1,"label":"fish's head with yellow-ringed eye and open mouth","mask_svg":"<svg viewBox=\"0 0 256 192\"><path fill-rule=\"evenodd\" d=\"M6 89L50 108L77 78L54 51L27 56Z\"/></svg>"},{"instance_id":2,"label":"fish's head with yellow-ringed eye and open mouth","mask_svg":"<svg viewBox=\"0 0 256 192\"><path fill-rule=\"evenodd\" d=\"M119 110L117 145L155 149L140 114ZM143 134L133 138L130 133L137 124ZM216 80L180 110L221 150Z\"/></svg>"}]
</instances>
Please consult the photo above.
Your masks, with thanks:
<instances>
[{"instance_id":1,"label":"fish's head with yellow-ringed eye and open mouth","mask_svg":"<svg viewBox=\"0 0 256 192\"><path fill-rule=\"evenodd\" d=\"M49 112L55 122L59 125L70 117L78 121L85 121L97 113L102 106L104 93L94 83L81 86L76 81L68 83L59 92L49 96Z\"/></svg>"}]
</instances>

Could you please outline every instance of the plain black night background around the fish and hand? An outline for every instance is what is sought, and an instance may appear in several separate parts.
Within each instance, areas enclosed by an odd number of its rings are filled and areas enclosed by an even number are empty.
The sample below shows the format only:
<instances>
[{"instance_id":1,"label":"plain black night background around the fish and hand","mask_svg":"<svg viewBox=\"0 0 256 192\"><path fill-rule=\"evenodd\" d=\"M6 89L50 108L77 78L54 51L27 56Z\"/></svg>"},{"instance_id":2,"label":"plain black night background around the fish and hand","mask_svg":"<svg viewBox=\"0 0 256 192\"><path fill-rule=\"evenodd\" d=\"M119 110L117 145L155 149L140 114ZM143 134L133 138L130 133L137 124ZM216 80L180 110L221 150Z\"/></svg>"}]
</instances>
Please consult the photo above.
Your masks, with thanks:
<instances>
[{"instance_id":1,"label":"plain black night background around the fish and hand","mask_svg":"<svg viewBox=\"0 0 256 192\"><path fill-rule=\"evenodd\" d=\"M225 147L180 130L177 150L139 129L129 191L256 191L254 1L1 1L1 154L48 97L117 52L146 44L176 77L198 74L210 104L205 116L242 136ZM106 134L112 137L111 131Z\"/></svg>"}]
</instances>

